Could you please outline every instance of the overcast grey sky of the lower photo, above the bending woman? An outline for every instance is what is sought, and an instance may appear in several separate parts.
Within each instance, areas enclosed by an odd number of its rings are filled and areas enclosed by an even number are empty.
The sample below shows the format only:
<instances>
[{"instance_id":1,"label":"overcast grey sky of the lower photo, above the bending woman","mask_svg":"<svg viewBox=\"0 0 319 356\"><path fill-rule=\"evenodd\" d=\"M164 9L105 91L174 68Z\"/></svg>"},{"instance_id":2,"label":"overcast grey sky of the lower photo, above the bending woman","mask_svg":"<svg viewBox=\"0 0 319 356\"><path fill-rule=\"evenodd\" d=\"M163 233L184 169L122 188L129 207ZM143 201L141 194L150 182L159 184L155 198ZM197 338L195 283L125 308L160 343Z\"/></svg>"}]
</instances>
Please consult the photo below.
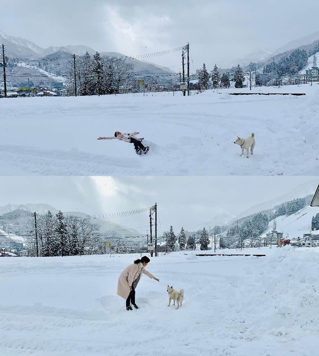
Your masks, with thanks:
<instances>
[{"instance_id":1,"label":"overcast grey sky of the lower photo, above the bending woman","mask_svg":"<svg viewBox=\"0 0 319 356\"><path fill-rule=\"evenodd\" d=\"M215 215L238 216L253 205L307 186L319 177L0 177L0 206L45 203L62 211L110 214L158 204L158 230L172 224L193 231ZM309 189L308 189L309 187ZM299 189L299 188L298 188ZM299 189L300 190L300 189ZM315 209L315 208L314 208ZM316 211L317 212L317 211ZM127 227L148 224L148 213L112 220ZM146 234L143 229L138 231Z\"/></svg>"}]
</instances>

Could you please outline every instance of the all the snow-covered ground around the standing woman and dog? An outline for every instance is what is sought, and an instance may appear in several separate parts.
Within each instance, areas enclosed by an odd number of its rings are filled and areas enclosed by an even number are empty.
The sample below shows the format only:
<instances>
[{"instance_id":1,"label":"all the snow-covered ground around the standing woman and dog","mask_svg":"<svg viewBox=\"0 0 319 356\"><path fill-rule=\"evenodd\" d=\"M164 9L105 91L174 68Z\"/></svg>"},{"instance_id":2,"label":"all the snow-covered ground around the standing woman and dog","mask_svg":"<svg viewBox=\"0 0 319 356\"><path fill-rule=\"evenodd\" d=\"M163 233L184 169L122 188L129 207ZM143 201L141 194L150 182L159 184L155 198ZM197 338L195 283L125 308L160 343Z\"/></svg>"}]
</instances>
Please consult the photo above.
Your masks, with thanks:
<instances>
[{"instance_id":1,"label":"all the snow-covered ground around the standing woman and dog","mask_svg":"<svg viewBox=\"0 0 319 356\"><path fill-rule=\"evenodd\" d=\"M225 252L266 257L152 258L132 312L116 285L137 255L1 258L1 355L318 355L319 248Z\"/></svg>"}]
</instances>

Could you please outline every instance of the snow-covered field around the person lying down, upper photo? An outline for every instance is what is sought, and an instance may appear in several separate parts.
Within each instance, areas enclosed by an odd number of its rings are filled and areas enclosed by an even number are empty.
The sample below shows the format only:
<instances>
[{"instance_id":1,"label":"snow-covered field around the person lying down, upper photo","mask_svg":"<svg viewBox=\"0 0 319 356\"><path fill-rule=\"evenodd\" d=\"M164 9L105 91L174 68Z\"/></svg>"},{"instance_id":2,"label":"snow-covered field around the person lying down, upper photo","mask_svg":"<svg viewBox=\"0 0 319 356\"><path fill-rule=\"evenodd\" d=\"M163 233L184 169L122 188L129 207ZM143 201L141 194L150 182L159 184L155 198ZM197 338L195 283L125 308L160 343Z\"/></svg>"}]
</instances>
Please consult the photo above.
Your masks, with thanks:
<instances>
[{"instance_id":1,"label":"snow-covered field around the person lying down, upper photo","mask_svg":"<svg viewBox=\"0 0 319 356\"><path fill-rule=\"evenodd\" d=\"M0 99L0 174L319 175L319 86L235 90ZM140 131L150 152L96 140L116 130ZM254 155L239 157L236 135L251 132Z\"/></svg>"}]
</instances>

